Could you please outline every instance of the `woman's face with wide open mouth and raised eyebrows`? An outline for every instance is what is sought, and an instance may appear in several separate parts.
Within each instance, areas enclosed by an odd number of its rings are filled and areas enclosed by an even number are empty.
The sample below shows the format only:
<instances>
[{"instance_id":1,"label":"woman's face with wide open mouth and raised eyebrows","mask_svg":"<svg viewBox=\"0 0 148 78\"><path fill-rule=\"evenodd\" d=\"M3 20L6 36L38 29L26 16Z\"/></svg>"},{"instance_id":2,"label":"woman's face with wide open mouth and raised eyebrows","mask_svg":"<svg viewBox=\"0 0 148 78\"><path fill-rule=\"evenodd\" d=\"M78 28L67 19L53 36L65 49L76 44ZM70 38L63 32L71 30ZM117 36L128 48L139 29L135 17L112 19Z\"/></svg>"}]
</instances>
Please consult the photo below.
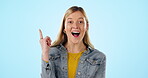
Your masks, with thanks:
<instances>
[{"instance_id":1,"label":"woman's face with wide open mouth and raised eyebrows","mask_svg":"<svg viewBox=\"0 0 148 78\"><path fill-rule=\"evenodd\" d=\"M80 11L70 14L65 20L64 31L68 37L69 42L81 42L87 29L88 24L84 15Z\"/></svg>"}]
</instances>

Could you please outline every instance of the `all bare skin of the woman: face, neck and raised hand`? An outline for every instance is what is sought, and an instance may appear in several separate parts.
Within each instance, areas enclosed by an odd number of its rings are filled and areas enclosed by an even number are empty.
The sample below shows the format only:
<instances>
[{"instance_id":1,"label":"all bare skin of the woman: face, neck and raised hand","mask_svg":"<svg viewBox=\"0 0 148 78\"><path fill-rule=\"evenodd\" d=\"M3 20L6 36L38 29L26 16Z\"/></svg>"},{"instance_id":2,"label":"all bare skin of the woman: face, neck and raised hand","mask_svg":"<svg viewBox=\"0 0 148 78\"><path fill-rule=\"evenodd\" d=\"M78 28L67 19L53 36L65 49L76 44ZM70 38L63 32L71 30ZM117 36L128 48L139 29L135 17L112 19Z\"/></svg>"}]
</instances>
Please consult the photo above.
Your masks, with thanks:
<instances>
[{"instance_id":1,"label":"all bare skin of the woman: face, neck and raised hand","mask_svg":"<svg viewBox=\"0 0 148 78\"><path fill-rule=\"evenodd\" d=\"M65 31L68 38L68 42L64 45L68 52L79 53L86 50L86 46L83 43L83 38L87 30L88 24L86 23L84 15L80 11L76 11L66 18L65 29L63 31ZM78 37L74 37L71 32L80 32L80 35ZM39 41L42 48L42 59L44 61L48 61L48 52L50 50L51 39L48 36L43 38L42 31L40 29L39 33Z\"/></svg>"}]
</instances>

